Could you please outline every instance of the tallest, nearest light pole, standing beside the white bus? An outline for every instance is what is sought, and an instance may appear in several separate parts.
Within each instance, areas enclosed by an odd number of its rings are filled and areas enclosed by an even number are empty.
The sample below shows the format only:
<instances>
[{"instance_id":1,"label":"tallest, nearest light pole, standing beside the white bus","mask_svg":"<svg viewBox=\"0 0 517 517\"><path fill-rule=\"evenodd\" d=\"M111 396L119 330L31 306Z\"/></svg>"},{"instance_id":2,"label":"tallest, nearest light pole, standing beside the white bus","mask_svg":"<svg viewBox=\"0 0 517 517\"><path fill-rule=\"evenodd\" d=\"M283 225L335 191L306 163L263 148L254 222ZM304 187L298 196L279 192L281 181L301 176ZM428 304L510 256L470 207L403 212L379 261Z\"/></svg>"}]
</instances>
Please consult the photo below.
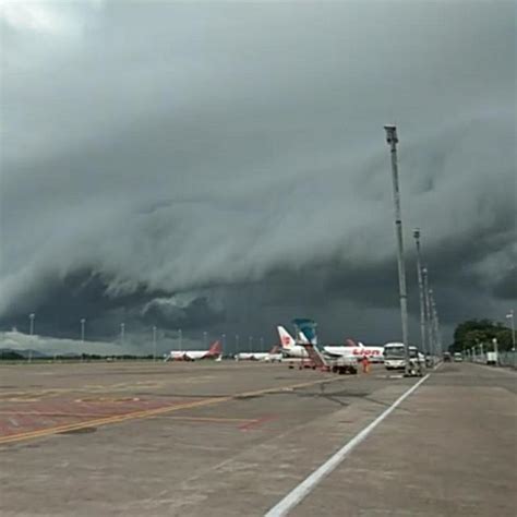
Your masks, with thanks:
<instances>
[{"instance_id":1,"label":"tallest, nearest light pole, standing beside the white bus","mask_svg":"<svg viewBox=\"0 0 517 517\"><path fill-rule=\"evenodd\" d=\"M408 332L408 294L406 291L406 268L404 264L404 239L402 239L402 216L400 211L400 188L398 182L397 164L397 128L395 125L385 125L386 142L389 145L392 156L392 180L393 180L393 201L395 205L395 233L397 237L397 262L398 262L398 290L400 297L400 318L402 324L402 342L406 356L406 375L411 372L409 359L409 332Z\"/></svg>"}]
</instances>

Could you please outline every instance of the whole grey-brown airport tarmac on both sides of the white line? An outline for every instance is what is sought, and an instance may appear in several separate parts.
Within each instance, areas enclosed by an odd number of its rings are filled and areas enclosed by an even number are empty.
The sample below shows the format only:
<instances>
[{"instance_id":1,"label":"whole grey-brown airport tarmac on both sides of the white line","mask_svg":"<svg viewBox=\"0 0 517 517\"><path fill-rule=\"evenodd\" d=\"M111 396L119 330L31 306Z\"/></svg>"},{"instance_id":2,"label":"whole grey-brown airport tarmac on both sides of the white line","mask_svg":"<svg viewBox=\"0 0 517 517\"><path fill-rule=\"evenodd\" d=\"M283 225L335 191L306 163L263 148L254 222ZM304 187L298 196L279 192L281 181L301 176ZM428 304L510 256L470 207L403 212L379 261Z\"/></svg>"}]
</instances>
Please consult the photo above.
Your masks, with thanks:
<instances>
[{"instance_id":1,"label":"whole grey-brown airport tarmac on both sides of the white line","mask_svg":"<svg viewBox=\"0 0 517 517\"><path fill-rule=\"evenodd\" d=\"M0 366L0 515L264 515L417 382L382 366ZM290 515L515 515L516 382L444 364Z\"/></svg>"}]
</instances>

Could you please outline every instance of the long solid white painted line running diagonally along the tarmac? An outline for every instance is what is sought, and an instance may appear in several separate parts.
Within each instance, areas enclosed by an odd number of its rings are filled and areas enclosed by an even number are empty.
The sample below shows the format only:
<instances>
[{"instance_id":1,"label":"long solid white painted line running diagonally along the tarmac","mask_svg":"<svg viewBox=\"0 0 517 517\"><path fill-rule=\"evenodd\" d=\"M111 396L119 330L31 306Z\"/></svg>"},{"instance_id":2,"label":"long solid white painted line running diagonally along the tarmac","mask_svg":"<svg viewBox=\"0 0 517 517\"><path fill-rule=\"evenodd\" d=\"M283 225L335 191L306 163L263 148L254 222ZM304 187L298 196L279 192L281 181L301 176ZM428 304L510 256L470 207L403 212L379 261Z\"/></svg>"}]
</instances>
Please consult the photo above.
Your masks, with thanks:
<instances>
[{"instance_id":1,"label":"long solid white painted line running diagonally along the tarmac","mask_svg":"<svg viewBox=\"0 0 517 517\"><path fill-rule=\"evenodd\" d=\"M297 506L312 490L328 476L347 456L397 406L411 395L429 377L425 375L417 384L411 386L395 402L381 413L370 425L365 426L350 442L346 443L334 456L330 456L318 469L314 470L309 478L292 489L279 503L277 503L264 517L282 517Z\"/></svg>"}]
</instances>

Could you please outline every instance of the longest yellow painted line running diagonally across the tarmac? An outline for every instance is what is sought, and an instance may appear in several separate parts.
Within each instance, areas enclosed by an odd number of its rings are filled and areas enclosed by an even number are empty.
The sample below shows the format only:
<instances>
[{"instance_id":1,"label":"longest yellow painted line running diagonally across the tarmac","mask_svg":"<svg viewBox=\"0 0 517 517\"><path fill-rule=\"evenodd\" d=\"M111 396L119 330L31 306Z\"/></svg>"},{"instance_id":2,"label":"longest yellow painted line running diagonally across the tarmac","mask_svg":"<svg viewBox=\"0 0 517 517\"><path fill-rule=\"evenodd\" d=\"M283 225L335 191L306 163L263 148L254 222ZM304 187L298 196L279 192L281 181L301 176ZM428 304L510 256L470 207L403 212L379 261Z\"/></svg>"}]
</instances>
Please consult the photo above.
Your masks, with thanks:
<instances>
[{"instance_id":1,"label":"longest yellow painted line running diagonally across the tarmac","mask_svg":"<svg viewBox=\"0 0 517 517\"><path fill-rule=\"evenodd\" d=\"M341 381L341 380L342 380L341 376L334 377L334 378L324 378L324 380L320 380L320 381L311 381L311 382L299 383L299 384L290 384L288 386L277 386L277 387L270 387L270 388L265 388L265 389L257 389L257 390L254 390L254 392L244 392L244 393L229 395L229 396L202 399L202 400L197 400L195 402L178 404L178 405L175 405L175 406L167 406L165 408L146 409L146 410L142 410L142 411L133 411L133 412L124 413L124 414L116 414L116 416L111 416L111 417L105 417L105 418L100 418L100 419L88 420L87 422L71 423L71 424L64 424L64 425L56 425L53 428L39 429L39 430L36 430L36 431L27 431L25 433L12 434L10 436L0 436L0 445L7 444L7 443L13 443L13 442L22 442L22 441L25 441L25 440L40 438L40 437L50 436L50 435L58 434L58 433L77 431L80 429L98 428L98 426L108 425L108 424L111 424L111 423L124 422L127 420L153 418L153 417L156 417L158 414L179 411L179 410L182 410L182 409L191 409L191 408L199 408L199 407L204 407L204 406L213 406L213 405L216 405L216 404L221 404L221 402L226 402L226 401L229 401L229 400L235 400L238 397L249 397L249 396L256 396L256 395L265 395L265 394L268 394L268 393L277 393L277 392L282 392L282 390L298 389L298 388L301 388L301 387L314 386L314 385L324 384L324 383L332 383L332 382Z\"/></svg>"}]
</instances>

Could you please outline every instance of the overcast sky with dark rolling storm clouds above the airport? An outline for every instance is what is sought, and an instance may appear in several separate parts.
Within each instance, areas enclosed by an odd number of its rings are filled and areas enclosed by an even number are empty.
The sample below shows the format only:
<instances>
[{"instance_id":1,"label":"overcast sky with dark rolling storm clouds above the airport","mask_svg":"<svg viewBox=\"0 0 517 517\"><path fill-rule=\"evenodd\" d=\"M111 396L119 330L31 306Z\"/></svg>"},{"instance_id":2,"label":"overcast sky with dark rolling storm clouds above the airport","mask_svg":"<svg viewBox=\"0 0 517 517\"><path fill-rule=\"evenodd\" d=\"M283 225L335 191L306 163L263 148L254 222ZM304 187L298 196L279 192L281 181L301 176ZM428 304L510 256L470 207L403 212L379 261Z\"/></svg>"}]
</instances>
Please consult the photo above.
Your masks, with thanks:
<instances>
[{"instance_id":1,"label":"overcast sky with dark rolling storm clouds above the airport","mask_svg":"<svg viewBox=\"0 0 517 517\"><path fill-rule=\"evenodd\" d=\"M385 123L411 339L416 226L446 340L504 321L515 5L3 1L0 327L398 339Z\"/></svg>"}]
</instances>

